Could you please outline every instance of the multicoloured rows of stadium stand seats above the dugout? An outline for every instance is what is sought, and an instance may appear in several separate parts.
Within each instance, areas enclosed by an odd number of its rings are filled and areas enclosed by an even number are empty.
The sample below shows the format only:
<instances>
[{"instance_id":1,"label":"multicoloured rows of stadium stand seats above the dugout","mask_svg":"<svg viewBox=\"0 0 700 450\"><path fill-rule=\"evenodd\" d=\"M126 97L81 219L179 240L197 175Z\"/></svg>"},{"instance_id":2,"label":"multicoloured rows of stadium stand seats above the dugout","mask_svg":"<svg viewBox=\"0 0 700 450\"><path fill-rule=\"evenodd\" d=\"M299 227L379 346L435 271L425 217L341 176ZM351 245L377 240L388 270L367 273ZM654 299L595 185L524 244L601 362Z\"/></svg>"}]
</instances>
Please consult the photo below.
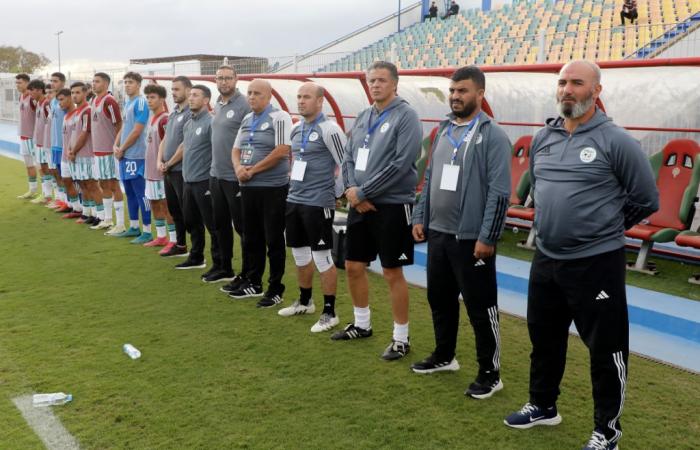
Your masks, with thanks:
<instances>
[{"instance_id":1,"label":"multicoloured rows of stadium stand seats above the dugout","mask_svg":"<svg viewBox=\"0 0 700 450\"><path fill-rule=\"evenodd\" d=\"M532 64L544 32L545 62L621 60L700 11L700 0L638 0L639 19L620 26L623 0L517 1L491 11L471 9L384 37L325 67L364 70L377 59L400 69L465 64Z\"/></svg>"}]
</instances>

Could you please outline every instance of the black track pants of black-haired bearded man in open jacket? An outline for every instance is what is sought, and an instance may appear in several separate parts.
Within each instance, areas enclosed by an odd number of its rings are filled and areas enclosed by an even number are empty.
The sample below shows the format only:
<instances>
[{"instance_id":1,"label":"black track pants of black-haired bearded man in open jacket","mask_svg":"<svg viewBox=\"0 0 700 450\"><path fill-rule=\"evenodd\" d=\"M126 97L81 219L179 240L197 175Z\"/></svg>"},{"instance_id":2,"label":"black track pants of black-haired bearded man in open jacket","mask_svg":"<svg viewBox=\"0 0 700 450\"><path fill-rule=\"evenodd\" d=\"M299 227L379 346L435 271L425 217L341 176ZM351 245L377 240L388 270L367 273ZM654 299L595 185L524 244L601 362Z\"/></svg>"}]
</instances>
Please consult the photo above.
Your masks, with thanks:
<instances>
[{"instance_id":1,"label":"black track pants of black-haired bearded man in open jacket","mask_svg":"<svg viewBox=\"0 0 700 450\"><path fill-rule=\"evenodd\" d=\"M428 232L428 302L433 313L438 361L451 361L457 346L459 294L474 329L479 371L500 371L496 256L474 258L475 240Z\"/></svg>"}]
</instances>

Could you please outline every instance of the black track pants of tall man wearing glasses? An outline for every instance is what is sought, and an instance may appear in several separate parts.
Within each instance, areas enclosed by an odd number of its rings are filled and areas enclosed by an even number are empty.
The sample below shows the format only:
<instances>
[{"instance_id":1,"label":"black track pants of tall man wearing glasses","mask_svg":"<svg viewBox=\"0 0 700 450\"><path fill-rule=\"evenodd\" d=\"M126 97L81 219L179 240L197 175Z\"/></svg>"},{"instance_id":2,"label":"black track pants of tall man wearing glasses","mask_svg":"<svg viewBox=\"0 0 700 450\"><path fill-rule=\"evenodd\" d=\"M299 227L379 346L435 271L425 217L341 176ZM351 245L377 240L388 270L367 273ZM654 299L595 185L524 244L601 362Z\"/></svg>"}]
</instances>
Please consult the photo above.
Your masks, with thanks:
<instances>
[{"instance_id":1,"label":"black track pants of tall man wearing glasses","mask_svg":"<svg viewBox=\"0 0 700 450\"><path fill-rule=\"evenodd\" d=\"M243 215L241 213L241 194L237 181L222 180L221 178L209 178L209 190L214 209L214 226L218 233L221 249L221 268L226 272L233 272L233 230L243 242ZM233 225L233 226L232 226ZM243 259L241 272L248 270Z\"/></svg>"}]
</instances>

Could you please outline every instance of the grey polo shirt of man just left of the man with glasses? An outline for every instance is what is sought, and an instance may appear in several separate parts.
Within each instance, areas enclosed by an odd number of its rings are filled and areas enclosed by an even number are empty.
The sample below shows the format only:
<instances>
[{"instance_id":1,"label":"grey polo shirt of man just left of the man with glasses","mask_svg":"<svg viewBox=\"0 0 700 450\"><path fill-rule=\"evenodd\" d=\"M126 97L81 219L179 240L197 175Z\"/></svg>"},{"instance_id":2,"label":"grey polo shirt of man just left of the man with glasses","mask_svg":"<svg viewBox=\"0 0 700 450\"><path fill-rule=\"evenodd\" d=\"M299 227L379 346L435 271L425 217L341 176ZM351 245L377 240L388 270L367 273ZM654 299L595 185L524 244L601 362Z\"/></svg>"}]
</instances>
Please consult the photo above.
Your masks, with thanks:
<instances>
[{"instance_id":1,"label":"grey polo shirt of man just left of the man with glasses","mask_svg":"<svg viewBox=\"0 0 700 450\"><path fill-rule=\"evenodd\" d=\"M182 154L182 178L187 183L209 179L211 168L211 121L206 108L192 117L185 124L184 152Z\"/></svg>"}]
</instances>

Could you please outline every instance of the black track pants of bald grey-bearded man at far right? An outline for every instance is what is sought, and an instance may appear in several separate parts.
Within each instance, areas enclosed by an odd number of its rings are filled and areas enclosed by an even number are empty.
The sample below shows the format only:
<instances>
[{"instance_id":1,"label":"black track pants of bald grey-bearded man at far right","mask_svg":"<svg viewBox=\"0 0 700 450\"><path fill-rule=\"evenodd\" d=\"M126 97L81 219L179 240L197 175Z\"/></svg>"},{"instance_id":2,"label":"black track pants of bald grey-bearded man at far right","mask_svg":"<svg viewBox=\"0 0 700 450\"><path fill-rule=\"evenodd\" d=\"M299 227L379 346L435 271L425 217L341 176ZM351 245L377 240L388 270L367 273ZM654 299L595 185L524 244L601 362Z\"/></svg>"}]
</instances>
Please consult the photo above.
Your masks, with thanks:
<instances>
[{"instance_id":1,"label":"black track pants of bald grey-bearded man at far right","mask_svg":"<svg viewBox=\"0 0 700 450\"><path fill-rule=\"evenodd\" d=\"M527 306L530 403L557 401L572 320L590 353L595 428L616 442L629 356L623 248L572 260L535 253Z\"/></svg>"}]
</instances>

